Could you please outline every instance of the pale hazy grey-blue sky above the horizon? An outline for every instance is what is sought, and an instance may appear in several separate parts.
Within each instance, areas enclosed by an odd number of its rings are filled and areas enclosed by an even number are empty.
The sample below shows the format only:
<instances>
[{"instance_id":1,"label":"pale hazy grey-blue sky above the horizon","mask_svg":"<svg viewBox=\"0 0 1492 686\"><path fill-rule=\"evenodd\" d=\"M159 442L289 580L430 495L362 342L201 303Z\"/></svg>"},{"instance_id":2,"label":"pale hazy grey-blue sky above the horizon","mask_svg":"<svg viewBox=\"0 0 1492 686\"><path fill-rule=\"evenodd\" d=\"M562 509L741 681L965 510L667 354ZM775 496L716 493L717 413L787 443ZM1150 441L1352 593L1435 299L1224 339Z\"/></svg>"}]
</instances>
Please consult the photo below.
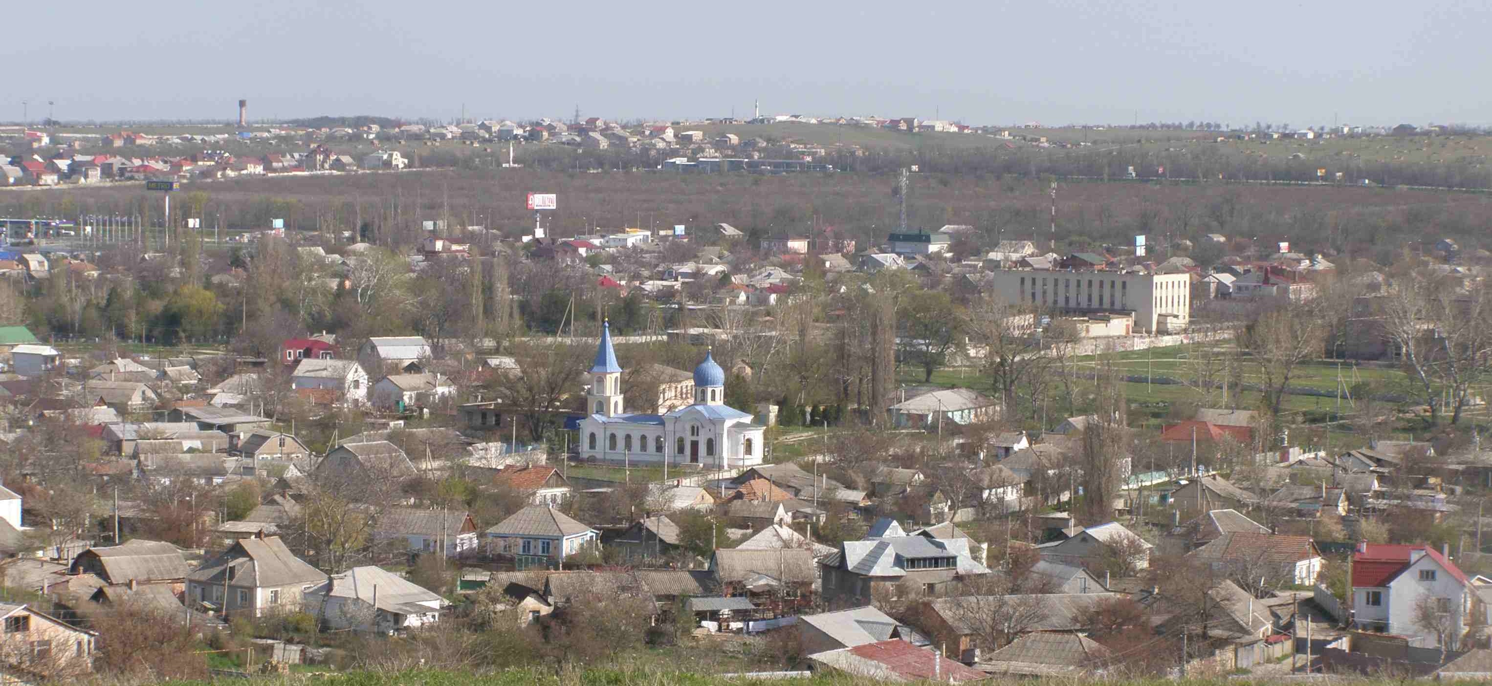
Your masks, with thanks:
<instances>
[{"instance_id":1,"label":"pale hazy grey-blue sky above the horizon","mask_svg":"<svg viewBox=\"0 0 1492 686\"><path fill-rule=\"evenodd\" d=\"M15 1L0 119L1492 122L1492 3Z\"/></svg>"}]
</instances>

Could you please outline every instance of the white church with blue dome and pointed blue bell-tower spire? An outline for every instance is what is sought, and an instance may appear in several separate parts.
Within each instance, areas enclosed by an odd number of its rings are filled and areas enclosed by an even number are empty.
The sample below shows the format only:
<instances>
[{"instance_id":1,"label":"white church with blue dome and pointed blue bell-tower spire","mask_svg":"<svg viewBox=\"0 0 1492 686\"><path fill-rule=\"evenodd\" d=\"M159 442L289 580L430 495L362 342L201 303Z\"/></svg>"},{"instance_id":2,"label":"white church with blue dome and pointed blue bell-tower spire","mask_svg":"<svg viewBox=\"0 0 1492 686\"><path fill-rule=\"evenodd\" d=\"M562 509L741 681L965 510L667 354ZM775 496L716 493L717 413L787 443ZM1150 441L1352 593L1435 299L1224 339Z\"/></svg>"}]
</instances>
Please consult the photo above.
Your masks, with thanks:
<instances>
[{"instance_id":1,"label":"white church with blue dome and pointed blue bell-tower spire","mask_svg":"<svg viewBox=\"0 0 1492 686\"><path fill-rule=\"evenodd\" d=\"M694 404L667 415L628 415L622 407L622 367L612 349L612 325L591 365L580 421L580 456L631 464L730 468L761 464L764 427L725 406L725 370L710 353L694 368Z\"/></svg>"}]
</instances>

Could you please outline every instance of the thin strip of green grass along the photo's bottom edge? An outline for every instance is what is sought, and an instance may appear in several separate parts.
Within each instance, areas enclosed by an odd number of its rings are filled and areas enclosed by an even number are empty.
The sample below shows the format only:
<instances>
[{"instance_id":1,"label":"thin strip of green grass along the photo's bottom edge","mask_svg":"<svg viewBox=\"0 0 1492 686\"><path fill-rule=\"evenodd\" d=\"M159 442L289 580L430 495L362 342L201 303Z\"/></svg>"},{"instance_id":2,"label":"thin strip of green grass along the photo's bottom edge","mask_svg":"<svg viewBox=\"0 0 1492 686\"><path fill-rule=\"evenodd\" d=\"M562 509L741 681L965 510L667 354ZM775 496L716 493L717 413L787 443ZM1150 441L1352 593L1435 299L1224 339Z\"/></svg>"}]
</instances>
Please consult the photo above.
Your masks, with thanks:
<instances>
[{"instance_id":1,"label":"thin strip of green grass along the photo's bottom edge","mask_svg":"<svg viewBox=\"0 0 1492 686\"><path fill-rule=\"evenodd\" d=\"M225 679L224 683L245 683L242 679ZM325 686L709 686L716 683L759 683L759 685L783 685L783 686L850 686L862 683L880 683L867 679L855 679L843 674L836 676L815 676L806 679L749 679L749 677L722 677L710 674L688 674L688 673L655 673L655 671L622 671L622 670L583 670L583 671L567 671L564 674L555 674L554 671L542 670L507 670L495 673L470 673L470 671L440 671L440 670L410 670L401 673L345 673L345 674L328 674L321 676L292 676L292 677L266 677L263 682L273 683L315 683ZM197 686L216 682L167 682L175 686ZM931 682L928 682L931 683ZM1091 685L1113 685L1113 686L1186 686L1186 685L1229 685L1229 686L1246 686L1246 685L1267 685L1280 683L1264 679L1185 679L1185 680L1161 680L1161 679L1116 679L1116 680L1077 680L1077 679L997 679L988 682L979 682L982 685L995 683L1019 683L1022 686L1073 686L1076 683L1091 683ZM1388 686L1391 683L1399 683L1391 679L1353 679L1353 677L1338 677L1337 683L1346 685L1362 685L1362 686Z\"/></svg>"}]
</instances>

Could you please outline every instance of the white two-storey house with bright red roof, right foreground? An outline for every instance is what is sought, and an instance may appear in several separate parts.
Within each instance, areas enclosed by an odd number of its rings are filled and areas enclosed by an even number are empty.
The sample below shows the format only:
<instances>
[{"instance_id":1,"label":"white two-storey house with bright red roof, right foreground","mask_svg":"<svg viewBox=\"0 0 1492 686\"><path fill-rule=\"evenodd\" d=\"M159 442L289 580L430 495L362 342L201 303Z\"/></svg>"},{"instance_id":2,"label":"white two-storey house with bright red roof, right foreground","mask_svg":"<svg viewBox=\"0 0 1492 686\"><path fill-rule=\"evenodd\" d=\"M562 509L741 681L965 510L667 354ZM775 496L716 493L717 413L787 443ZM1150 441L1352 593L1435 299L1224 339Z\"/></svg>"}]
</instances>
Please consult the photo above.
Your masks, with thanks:
<instances>
[{"instance_id":1,"label":"white two-storey house with bright red roof, right foreground","mask_svg":"<svg viewBox=\"0 0 1492 686\"><path fill-rule=\"evenodd\" d=\"M1474 622L1473 588L1456 564L1429 546L1358 543L1352 553L1352 611L1356 628L1419 638L1423 647L1455 650ZM1431 602L1449 631L1422 626L1416 605ZM1485 619L1485 617L1483 617ZM1444 634L1444 635L1438 635Z\"/></svg>"}]
</instances>

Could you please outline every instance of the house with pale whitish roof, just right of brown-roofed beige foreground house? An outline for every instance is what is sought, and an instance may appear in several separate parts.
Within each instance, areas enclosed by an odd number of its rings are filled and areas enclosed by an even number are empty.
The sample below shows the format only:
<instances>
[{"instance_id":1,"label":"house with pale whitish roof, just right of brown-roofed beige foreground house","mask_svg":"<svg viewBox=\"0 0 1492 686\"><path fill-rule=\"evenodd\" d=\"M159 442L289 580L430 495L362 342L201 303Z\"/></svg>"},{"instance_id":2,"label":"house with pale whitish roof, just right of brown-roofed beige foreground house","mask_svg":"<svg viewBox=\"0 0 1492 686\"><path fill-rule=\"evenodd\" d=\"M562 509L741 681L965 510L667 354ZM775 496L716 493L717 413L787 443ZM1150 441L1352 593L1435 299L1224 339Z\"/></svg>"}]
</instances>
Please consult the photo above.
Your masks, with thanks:
<instances>
[{"instance_id":1,"label":"house with pale whitish roof, just right of brown-roofed beige foreground house","mask_svg":"<svg viewBox=\"0 0 1492 686\"><path fill-rule=\"evenodd\" d=\"M440 619L443 600L377 567L354 567L303 592L306 611L331 629L394 634Z\"/></svg>"}]
</instances>

